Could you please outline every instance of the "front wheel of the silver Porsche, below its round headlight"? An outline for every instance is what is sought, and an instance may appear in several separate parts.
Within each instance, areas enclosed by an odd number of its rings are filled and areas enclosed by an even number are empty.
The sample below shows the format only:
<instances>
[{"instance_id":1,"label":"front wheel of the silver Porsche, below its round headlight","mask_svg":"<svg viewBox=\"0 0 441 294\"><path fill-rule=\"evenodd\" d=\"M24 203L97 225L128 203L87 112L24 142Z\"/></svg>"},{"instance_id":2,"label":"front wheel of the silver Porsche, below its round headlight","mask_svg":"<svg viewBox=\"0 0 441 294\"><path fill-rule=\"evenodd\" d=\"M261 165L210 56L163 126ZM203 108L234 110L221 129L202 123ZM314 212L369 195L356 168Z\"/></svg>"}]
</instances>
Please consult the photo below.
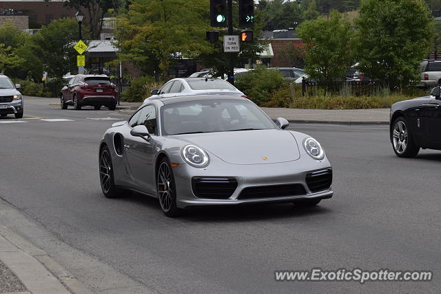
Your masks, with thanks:
<instances>
[{"instance_id":1,"label":"front wheel of the silver Porsche, below its round headlight","mask_svg":"<svg viewBox=\"0 0 441 294\"><path fill-rule=\"evenodd\" d=\"M166 216L178 216L181 210L176 205L176 185L170 161L165 157L156 170L156 191L159 205Z\"/></svg>"}]
</instances>

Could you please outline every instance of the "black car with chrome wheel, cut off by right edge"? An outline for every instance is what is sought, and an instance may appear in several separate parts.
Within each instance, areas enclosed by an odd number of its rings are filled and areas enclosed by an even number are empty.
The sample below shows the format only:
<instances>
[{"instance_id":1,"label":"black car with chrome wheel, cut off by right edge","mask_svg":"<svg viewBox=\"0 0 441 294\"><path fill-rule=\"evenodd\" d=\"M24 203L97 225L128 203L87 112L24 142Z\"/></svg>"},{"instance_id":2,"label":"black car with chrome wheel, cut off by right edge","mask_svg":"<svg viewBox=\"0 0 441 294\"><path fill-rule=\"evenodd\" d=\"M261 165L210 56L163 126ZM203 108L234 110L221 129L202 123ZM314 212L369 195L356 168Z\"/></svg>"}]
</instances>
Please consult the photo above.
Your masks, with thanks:
<instances>
[{"instance_id":1,"label":"black car with chrome wheel, cut off by right edge","mask_svg":"<svg viewBox=\"0 0 441 294\"><path fill-rule=\"evenodd\" d=\"M391 107L390 136L399 157L416 157L420 148L441 150L441 88L430 96L397 102Z\"/></svg>"}]
</instances>

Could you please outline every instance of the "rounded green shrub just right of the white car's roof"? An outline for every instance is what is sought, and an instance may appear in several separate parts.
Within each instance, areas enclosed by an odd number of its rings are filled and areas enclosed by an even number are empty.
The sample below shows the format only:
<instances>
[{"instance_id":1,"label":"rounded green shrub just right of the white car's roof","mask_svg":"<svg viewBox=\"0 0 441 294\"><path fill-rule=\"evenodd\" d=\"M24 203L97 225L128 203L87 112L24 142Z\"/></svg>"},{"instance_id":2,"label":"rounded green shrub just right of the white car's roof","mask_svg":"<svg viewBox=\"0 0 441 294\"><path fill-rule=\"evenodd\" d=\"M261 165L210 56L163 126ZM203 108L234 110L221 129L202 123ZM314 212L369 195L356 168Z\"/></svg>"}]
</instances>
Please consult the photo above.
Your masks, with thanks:
<instances>
[{"instance_id":1,"label":"rounded green shrub just right of the white car's roof","mask_svg":"<svg viewBox=\"0 0 441 294\"><path fill-rule=\"evenodd\" d=\"M271 94L284 84L283 76L276 70L258 68L241 74L234 85L258 105L271 100Z\"/></svg>"}]
</instances>

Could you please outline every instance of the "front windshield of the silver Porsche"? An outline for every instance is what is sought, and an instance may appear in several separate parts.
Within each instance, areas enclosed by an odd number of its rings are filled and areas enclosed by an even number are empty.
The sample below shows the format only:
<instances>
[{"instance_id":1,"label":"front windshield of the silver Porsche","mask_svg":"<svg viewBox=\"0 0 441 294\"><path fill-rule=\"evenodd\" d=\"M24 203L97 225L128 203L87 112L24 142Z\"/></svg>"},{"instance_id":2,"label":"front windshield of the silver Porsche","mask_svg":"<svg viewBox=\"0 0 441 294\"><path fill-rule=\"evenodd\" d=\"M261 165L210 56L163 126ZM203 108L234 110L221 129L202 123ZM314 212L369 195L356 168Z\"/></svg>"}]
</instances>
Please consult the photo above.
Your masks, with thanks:
<instances>
[{"instance_id":1,"label":"front windshield of the silver Porsche","mask_svg":"<svg viewBox=\"0 0 441 294\"><path fill-rule=\"evenodd\" d=\"M197 100L161 108L163 135L251 131L276 128L256 104L247 100Z\"/></svg>"}]
</instances>

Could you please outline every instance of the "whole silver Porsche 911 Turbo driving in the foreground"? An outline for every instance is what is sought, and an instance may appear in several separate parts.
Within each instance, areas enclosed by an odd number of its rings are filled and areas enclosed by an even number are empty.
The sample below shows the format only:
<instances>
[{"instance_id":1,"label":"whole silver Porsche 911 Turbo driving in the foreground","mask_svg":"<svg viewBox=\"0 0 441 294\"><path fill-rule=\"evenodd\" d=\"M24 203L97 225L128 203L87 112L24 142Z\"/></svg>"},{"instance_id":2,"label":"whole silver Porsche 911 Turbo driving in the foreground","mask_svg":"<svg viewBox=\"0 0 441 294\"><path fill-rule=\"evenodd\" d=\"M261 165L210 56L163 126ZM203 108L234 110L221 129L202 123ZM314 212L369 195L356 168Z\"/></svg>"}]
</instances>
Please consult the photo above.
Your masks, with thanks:
<instances>
[{"instance_id":1,"label":"whole silver Porsche 911 Turbo driving in the foreground","mask_svg":"<svg viewBox=\"0 0 441 294\"><path fill-rule=\"evenodd\" d=\"M101 188L108 198L157 197L167 216L197 205L316 205L333 194L331 165L316 139L287 126L237 96L152 100L105 132Z\"/></svg>"}]
</instances>

